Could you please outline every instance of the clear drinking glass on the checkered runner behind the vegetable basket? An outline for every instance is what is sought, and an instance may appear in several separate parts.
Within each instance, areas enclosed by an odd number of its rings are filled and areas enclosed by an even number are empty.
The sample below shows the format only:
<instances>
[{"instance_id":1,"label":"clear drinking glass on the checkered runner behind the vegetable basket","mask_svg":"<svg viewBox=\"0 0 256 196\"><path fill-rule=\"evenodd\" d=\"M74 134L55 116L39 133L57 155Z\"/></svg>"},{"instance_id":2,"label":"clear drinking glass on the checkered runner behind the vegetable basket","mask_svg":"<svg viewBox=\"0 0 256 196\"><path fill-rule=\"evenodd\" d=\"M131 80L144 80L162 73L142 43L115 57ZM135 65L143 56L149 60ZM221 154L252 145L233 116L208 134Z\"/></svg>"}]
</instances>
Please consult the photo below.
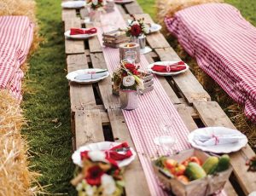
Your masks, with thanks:
<instances>
[{"instance_id":1,"label":"clear drinking glass on the checkered runner behind the vegetable basket","mask_svg":"<svg viewBox=\"0 0 256 196\"><path fill-rule=\"evenodd\" d=\"M176 142L177 137L174 133L174 119L172 114L162 114L157 118L160 127L160 135L154 138L154 143L158 146L164 147L167 151L171 150L172 153L176 153L175 149L172 149Z\"/></svg>"}]
</instances>

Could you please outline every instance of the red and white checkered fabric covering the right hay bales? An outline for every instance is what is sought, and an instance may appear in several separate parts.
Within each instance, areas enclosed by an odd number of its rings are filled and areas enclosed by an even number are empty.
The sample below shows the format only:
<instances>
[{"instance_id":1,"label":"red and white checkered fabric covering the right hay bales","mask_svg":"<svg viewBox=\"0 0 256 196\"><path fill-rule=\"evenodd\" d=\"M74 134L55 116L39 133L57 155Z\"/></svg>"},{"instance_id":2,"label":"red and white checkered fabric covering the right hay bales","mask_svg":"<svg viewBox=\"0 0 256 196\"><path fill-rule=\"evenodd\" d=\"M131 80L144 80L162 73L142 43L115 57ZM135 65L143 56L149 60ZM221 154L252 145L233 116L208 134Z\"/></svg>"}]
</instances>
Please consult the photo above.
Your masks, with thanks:
<instances>
[{"instance_id":1,"label":"red and white checkered fabric covering the right hay bales","mask_svg":"<svg viewBox=\"0 0 256 196\"><path fill-rule=\"evenodd\" d=\"M198 65L256 122L256 28L226 3L207 3L165 19Z\"/></svg>"}]
</instances>

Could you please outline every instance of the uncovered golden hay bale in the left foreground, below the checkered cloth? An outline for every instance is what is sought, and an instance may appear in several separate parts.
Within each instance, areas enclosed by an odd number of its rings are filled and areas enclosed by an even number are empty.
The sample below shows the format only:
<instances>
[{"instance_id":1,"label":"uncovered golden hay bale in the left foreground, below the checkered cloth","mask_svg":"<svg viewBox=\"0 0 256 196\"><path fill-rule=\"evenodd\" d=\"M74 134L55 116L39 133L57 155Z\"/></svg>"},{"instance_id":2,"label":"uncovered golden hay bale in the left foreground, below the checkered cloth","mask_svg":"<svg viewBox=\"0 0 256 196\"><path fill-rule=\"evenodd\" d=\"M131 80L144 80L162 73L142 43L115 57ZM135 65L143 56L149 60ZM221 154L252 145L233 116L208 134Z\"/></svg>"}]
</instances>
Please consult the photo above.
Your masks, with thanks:
<instances>
[{"instance_id":1,"label":"uncovered golden hay bale in the left foreground, below the checkered cloth","mask_svg":"<svg viewBox=\"0 0 256 196\"><path fill-rule=\"evenodd\" d=\"M0 91L0 195L34 195L36 173L28 170L27 144L20 135L26 124L19 102Z\"/></svg>"}]
</instances>

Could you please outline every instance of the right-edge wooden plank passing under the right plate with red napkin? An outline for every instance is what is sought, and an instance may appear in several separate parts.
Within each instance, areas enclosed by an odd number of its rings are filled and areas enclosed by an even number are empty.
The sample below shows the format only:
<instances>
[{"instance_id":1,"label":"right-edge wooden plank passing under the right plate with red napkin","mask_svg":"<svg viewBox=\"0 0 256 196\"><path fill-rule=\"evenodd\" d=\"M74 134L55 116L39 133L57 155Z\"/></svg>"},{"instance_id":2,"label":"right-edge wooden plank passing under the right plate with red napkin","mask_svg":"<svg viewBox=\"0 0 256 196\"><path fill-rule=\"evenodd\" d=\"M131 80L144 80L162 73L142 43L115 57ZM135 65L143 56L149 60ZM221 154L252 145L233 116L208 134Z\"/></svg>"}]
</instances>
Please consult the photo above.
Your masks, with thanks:
<instances>
[{"instance_id":1,"label":"right-edge wooden plank passing under the right plate with red napkin","mask_svg":"<svg viewBox=\"0 0 256 196\"><path fill-rule=\"evenodd\" d=\"M155 49L159 55L160 61L181 61L172 48ZM183 74L173 76L173 81L180 89L189 104L194 101L210 101L211 97L207 91L203 89L201 84L189 70Z\"/></svg>"}]
</instances>

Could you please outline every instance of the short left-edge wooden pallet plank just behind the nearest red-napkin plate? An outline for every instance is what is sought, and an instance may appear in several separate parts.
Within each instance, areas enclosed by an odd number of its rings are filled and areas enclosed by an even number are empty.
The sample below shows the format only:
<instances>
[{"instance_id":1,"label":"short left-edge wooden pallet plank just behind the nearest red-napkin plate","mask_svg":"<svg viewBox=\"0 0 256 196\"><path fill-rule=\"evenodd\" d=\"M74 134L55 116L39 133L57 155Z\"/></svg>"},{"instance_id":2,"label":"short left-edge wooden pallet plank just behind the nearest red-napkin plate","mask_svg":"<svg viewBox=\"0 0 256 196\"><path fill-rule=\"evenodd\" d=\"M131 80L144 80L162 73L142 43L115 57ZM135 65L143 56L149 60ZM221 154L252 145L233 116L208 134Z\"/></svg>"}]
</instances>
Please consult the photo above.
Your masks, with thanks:
<instances>
[{"instance_id":1,"label":"short left-edge wooden pallet plank just behind the nearest red-napkin plate","mask_svg":"<svg viewBox=\"0 0 256 196\"><path fill-rule=\"evenodd\" d=\"M76 148L87 143L104 141L100 110L75 112L75 138Z\"/></svg>"}]
</instances>

